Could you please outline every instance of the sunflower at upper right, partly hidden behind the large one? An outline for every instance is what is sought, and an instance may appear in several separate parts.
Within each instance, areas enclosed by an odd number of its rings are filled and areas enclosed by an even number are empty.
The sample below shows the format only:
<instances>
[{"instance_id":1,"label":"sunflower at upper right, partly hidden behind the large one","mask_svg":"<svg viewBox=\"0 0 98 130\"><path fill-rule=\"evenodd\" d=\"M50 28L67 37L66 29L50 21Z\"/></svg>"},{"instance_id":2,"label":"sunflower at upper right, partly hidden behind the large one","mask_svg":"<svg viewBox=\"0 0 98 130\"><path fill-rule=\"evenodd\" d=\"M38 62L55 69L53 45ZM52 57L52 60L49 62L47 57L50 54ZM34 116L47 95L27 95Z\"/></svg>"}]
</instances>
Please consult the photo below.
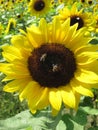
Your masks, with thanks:
<instances>
[{"instance_id":1,"label":"sunflower at upper right, partly hidden behind the large one","mask_svg":"<svg viewBox=\"0 0 98 130\"><path fill-rule=\"evenodd\" d=\"M70 25L78 23L78 28L93 26L94 20L91 12L84 12L83 8L78 9L77 3L74 3L71 9L65 6L59 13L59 17L62 22L70 17Z\"/></svg>"}]
</instances>

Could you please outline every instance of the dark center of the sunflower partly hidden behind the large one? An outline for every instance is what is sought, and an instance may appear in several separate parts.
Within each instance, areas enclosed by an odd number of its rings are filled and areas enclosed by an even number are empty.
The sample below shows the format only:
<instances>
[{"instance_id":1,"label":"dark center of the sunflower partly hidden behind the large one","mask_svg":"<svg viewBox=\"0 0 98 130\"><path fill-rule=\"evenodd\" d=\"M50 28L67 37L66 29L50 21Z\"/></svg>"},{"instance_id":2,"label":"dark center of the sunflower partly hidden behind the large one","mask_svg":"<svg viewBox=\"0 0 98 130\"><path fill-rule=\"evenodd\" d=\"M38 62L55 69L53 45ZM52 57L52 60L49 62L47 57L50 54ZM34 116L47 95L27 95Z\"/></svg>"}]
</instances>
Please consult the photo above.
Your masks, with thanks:
<instances>
[{"instance_id":1,"label":"dark center of the sunflower partly hidden behind the large one","mask_svg":"<svg viewBox=\"0 0 98 130\"><path fill-rule=\"evenodd\" d=\"M78 23L78 28L77 29L80 29L84 26L84 22L83 22L83 19L79 16L72 16L71 17L71 21L70 21L70 25L74 25L75 23Z\"/></svg>"}]
</instances>

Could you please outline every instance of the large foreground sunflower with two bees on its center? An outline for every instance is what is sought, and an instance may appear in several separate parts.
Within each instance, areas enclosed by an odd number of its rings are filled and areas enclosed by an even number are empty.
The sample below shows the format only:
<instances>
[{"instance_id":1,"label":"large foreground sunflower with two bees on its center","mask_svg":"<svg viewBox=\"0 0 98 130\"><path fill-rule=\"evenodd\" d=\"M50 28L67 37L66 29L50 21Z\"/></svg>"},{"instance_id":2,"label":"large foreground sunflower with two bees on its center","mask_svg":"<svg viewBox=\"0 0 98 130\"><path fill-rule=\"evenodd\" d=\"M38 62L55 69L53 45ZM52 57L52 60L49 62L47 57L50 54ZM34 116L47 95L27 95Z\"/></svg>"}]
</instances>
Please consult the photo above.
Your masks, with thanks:
<instances>
[{"instance_id":1,"label":"large foreground sunflower with two bees on its center","mask_svg":"<svg viewBox=\"0 0 98 130\"><path fill-rule=\"evenodd\" d=\"M77 26L70 26L70 19L63 24L58 18L51 23L41 19L39 26L21 30L11 45L3 46L6 63L0 63L0 70L6 75L3 81L10 81L4 91L18 92L32 113L50 105L55 115L62 103L77 109L81 95L93 97L98 46L88 44L91 38Z\"/></svg>"}]
</instances>

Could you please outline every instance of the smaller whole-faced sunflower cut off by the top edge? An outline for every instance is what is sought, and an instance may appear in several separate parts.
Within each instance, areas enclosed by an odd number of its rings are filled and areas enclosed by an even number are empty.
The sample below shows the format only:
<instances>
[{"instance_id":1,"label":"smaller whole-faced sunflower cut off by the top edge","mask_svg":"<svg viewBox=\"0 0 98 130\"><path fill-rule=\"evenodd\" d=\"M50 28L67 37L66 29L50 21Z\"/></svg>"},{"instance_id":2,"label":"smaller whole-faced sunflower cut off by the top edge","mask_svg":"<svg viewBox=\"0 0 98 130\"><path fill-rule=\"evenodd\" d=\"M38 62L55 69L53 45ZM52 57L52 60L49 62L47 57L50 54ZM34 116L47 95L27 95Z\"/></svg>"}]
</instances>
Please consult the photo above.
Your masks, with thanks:
<instances>
[{"instance_id":1,"label":"smaller whole-faced sunflower cut off by the top edge","mask_svg":"<svg viewBox=\"0 0 98 130\"><path fill-rule=\"evenodd\" d=\"M51 0L31 0L28 4L28 11L32 15L39 17L40 15L45 15L51 5Z\"/></svg>"}]
</instances>

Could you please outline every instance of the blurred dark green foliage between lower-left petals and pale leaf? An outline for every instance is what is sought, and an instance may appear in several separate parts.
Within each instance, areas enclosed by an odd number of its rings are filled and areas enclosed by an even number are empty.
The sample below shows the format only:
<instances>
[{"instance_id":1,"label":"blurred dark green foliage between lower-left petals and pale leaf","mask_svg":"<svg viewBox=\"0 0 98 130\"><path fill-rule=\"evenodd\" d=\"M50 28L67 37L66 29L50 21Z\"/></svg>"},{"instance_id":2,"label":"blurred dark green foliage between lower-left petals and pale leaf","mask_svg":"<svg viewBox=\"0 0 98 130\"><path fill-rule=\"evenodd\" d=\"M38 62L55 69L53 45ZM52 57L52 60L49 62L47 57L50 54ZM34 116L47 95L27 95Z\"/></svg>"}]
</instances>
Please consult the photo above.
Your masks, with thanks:
<instances>
[{"instance_id":1,"label":"blurred dark green foliage between lower-left petals and pale leaf","mask_svg":"<svg viewBox=\"0 0 98 130\"><path fill-rule=\"evenodd\" d=\"M27 109L26 102L20 102L17 94L11 94L3 91L1 80L4 76L0 75L0 119L6 119Z\"/></svg>"}]
</instances>

